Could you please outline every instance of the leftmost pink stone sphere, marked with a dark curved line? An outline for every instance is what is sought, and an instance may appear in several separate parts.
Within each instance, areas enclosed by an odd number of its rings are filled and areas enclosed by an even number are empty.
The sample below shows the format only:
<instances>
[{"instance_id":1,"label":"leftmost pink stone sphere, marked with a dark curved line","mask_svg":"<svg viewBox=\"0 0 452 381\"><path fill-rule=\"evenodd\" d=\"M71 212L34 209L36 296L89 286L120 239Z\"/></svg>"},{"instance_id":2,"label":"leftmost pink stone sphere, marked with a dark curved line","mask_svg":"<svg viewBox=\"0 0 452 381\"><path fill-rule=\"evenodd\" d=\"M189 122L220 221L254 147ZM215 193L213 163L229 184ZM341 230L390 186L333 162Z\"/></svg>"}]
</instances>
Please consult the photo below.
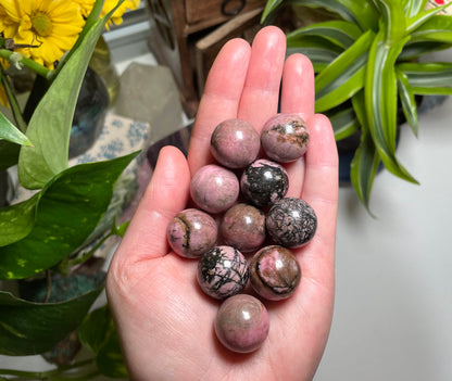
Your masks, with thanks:
<instances>
[{"instance_id":1,"label":"leftmost pink stone sphere, marked with a dark curved line","mask_svg":"<svg viewBox=\"0 0 452 381\"><path fill-rule=\"evenodd\" d=\"M215 220L206 213L188 208L179 212L167 228L167 238L174 252L186 258L197 258L215 245Z\"/></svg>"}]
</instances>

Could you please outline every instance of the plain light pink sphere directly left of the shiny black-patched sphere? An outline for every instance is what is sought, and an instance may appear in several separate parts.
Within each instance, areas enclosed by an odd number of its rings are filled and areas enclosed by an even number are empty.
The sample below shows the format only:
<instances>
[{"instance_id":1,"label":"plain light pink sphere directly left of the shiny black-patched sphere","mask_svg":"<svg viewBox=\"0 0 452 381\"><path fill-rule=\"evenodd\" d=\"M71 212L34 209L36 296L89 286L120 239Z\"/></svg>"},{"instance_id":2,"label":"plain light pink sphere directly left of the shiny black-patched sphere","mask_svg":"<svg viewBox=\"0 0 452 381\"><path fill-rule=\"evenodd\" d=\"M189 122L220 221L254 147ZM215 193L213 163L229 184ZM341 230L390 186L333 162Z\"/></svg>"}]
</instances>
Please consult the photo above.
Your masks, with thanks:
<instances>
[{"instance_id":1,"label":"plain light pink sphere directly left of the shiny black-patched sphere","mask_svg":"<svg viewBox=\"0 0 452 381\"><path fill-rule=\"evenodd\" d=\"M237 176L219 165L204 165L193 175L190 194L194 203L209 213L221 213L235 204L240 192Z\"/></svg>"}]
</instances>

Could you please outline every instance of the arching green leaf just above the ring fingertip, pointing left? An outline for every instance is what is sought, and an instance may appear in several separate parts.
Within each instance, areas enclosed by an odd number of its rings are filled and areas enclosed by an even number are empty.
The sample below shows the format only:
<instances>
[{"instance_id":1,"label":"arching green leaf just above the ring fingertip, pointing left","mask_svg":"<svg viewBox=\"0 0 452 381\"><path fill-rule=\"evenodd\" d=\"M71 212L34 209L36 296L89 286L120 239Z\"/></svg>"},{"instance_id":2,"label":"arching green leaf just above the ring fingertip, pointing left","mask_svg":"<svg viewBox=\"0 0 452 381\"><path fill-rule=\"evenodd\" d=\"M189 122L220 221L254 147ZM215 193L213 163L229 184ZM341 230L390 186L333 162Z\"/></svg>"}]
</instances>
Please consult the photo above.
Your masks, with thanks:
<instances>
[{"instance_id":1,"label":"arching green leaf just above the ring fingertip, pointing left","mask_svg":"<svg viewBox=\"0 0 452 381\"><path fill-rule=\"evenodd\" d=\"M286 37L288 41L291 41L300 38L300 36L316 36L327 39L342 49L347 49L360 38L361 34L361 29L353 23L329 21L296 29L287 34Z\"/></svg>"}]
</instances>

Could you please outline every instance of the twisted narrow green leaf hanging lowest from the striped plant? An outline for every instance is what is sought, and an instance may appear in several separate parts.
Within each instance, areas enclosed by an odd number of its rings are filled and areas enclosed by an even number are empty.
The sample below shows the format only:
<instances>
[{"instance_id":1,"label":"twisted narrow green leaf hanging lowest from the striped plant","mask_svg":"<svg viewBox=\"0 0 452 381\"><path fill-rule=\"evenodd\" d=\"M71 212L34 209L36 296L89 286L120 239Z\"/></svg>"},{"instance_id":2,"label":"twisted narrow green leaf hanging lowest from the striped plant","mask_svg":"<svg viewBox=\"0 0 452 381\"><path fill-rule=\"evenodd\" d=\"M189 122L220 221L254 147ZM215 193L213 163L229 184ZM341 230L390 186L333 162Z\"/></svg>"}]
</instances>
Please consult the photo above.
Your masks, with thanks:
<instances>
[{"instance_id":1,"label":"twisted narrow green leaf hanging lowest from the striped plant","mask_svg":"<svg viewBox=\"0 0 452 381\"><path fill-rule=\"evenodd\" d=\"M374 178L380 163L380 157L367 126L364 91L361 91L353 97L352 104L356 118L362 126L362 134L360 147L356 150L351 163L350 178L360 201L372 215L369 209L371 193Z\"/></svg>"}]
</instances>

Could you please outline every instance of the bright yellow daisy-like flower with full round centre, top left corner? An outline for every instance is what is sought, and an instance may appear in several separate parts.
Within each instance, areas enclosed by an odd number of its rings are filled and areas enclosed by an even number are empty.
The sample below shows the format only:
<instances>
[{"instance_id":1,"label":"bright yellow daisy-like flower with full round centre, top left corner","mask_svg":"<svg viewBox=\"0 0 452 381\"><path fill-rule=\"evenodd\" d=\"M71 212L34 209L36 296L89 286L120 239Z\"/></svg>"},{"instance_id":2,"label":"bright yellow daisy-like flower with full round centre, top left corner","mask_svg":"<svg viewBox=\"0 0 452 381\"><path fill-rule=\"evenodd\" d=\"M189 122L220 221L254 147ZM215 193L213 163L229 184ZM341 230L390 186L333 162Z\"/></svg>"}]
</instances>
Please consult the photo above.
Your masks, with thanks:
<instances>
[{"instance_id":1,"label":"bright yellow daisy-like flower with full round centre, top left corner","mask_svg":"<svg viewBox=\"0 0 452 381\"><path fill-rule=\"evenodd\" d=\"M49 68L74 46L85 23L79 5L67 0L0 0L0 9L4 37L34 46L17 51Z\"/></svg>"}]
</instances>

